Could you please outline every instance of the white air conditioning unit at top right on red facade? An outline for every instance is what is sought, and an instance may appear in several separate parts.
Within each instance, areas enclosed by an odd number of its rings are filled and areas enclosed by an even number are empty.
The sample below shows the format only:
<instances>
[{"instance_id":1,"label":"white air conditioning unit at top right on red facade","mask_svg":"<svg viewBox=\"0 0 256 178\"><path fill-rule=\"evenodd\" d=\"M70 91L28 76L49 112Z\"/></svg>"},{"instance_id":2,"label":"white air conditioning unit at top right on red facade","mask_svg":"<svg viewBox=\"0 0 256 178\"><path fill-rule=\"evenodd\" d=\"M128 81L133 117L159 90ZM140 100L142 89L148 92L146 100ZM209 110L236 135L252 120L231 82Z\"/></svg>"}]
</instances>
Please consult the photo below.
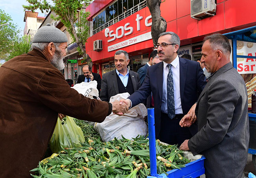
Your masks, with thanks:
<instances>
[{"instance_id":1,"label":"white air conditioning unit at top right on red facade","mask_svg":"<svg viewBox=\"0 0 256 178\"><path fill-rule=\"evenodd\" d=\"M215 0L191 0L191 18L202 20L216 13Z\"/></svg>"}]
</instances>

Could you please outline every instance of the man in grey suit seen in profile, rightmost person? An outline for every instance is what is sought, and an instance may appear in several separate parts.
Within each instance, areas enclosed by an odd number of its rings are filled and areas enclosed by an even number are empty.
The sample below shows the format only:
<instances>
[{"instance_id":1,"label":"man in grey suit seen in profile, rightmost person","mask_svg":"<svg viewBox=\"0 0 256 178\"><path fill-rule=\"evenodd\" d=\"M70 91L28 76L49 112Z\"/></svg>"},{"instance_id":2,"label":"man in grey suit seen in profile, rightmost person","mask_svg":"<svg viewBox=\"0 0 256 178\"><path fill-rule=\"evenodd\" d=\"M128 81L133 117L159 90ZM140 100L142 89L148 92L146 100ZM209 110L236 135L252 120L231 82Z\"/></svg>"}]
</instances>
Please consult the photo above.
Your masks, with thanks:
<instances>
[{"instance_id":1,"label":"man in grey suit seen in profile, rightmost person","mask_svg":"<svg viewBox=\"0 0 256 178\"><path fill-rule=\"evenodd\" d=\"M230 62L230 52L230 43L224 35L204 38L201 62L212 75L195 108L198 133L180 146L181 150L206 157L207 178L241 178L247 162L247 89ZM182 120L180 125L191 124L186 117Z\"/></svg>"}]
</instances>

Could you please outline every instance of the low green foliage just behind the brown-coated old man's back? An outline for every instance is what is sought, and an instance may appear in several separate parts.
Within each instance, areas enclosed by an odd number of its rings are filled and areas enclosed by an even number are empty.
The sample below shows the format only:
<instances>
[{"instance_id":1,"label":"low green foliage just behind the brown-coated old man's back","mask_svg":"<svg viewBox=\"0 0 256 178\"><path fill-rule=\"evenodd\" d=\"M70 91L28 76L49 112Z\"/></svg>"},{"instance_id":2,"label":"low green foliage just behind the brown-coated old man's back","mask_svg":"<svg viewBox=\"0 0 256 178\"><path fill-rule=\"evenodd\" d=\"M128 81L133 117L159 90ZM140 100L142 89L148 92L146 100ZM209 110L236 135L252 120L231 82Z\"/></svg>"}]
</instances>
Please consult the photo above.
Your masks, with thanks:
<instances>
[{"instance_id":1,"label":"low green foliage just behind the brown-coated old man's back","mask_svg":"<svg viewBox=\"0 0 256 178\"><path fill-rule=\"evenodd\" d=\"M9 59L12 59L15 56L28 53L28 51L30 51L30 48L31 48L31 37L28 35L25 35L13 45L10 55L6 59L6 61Z\"/></svg>"}]
</instances>

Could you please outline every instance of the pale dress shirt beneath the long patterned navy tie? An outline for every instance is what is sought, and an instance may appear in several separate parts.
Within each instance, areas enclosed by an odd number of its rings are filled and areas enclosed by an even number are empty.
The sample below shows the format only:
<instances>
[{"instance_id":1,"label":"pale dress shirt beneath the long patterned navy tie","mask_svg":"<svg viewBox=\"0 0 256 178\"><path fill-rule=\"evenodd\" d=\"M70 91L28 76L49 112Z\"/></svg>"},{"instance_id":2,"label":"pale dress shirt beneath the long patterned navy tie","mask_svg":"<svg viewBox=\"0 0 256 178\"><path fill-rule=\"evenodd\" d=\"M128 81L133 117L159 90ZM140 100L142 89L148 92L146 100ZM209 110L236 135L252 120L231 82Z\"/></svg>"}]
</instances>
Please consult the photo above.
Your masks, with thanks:
<instances>
[{"instance_id":1,"label":"pale dress shirt beneath the long patterned navy tie","mask_svg":"<svg viewBox=\"0 0 256 178\"><path fill-rule=\"evenodd\" d=\"M172 72L173 72L173 87L174 87L174 105L175 105L175 114L183 114L181 100L180 100L180 60L177 57L171 62ZM167 111L167 75L169 73L169 68L167 63L163 62L163 94L162 94L162 103L161 111L168 113Z\"/></svg>"}]
</instances>

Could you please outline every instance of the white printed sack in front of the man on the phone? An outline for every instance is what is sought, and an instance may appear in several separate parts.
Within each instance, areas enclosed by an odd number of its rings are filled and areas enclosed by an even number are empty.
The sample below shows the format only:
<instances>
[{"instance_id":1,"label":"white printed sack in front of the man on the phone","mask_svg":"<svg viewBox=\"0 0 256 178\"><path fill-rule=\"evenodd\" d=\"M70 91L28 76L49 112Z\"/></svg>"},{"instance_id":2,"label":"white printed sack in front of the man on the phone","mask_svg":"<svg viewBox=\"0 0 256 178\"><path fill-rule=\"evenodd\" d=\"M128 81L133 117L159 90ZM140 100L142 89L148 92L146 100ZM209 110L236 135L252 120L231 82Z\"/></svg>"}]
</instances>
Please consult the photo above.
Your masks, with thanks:
<instances>
[{"instance_id":1,"label":"white printed sack in front of the man on the phone","mask_svg":"<svg viewBox=\"0 0 256 178\"><path fill-rule=\"evenodd\" d=\"M97 81L90 81L90 82L82 82L75 84L73 87L78 93L84 95L85 97L93 98L93 96L99 96L99 92L97 89Z\"/></svg>"}]
</instances>

